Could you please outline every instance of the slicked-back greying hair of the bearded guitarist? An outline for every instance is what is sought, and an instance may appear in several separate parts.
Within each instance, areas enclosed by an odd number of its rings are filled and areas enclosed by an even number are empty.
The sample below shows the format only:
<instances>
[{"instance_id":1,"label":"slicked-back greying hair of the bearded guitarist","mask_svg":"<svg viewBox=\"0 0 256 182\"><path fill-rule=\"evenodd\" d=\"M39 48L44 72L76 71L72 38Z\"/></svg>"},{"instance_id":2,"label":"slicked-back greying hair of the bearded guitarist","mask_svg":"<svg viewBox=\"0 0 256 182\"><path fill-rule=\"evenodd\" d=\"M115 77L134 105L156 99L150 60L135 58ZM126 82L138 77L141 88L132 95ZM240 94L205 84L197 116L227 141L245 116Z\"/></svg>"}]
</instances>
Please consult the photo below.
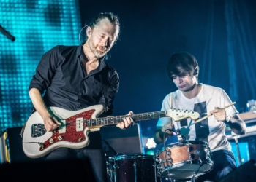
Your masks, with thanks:
<instances>
[{"instance_id":1,"label":"slicked-back greying hair of the bearded guitarist","mask_svg":"<svg viewBox=\"0 0 256 182\"><path fill-rule=\"evenodd\" d=\"M118 28L118 35L116 36L116 40L118 40L120 33L120 23L117 15L114 15L113 12L101 12L95 17L91 19L88 26L91 27L91 30L94 29L95 26L99 25L99 22L103 19L108 19L110 23L115 25Z\"/></svg>"}]
</instances>

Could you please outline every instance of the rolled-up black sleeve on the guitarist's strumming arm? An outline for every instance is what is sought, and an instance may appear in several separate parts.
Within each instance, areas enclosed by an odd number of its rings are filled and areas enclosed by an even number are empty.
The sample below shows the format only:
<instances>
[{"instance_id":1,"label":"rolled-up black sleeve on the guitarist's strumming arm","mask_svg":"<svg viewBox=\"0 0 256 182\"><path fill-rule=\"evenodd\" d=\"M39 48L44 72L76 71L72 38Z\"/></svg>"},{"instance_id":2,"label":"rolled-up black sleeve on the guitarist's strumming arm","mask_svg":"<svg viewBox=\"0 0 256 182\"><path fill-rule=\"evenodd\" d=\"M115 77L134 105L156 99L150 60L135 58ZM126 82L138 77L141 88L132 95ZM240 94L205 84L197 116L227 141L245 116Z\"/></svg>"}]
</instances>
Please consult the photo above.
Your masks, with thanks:
<instances>
[{"instance_id":1,"label":"rolled-up black sleeve on the guitarist's strumming arm","mask_svg":"<svg viewBox=\"0 0 256 182\"><path fill-rule=\"evenodd\" d=\"M29 90L37 88L43 93L50 85L50 80L54 76L59 60L59 47L53 47L48 52L42 55L42 58L37 66L36 74L31 79Z\"/></svg>"}]
</instances>

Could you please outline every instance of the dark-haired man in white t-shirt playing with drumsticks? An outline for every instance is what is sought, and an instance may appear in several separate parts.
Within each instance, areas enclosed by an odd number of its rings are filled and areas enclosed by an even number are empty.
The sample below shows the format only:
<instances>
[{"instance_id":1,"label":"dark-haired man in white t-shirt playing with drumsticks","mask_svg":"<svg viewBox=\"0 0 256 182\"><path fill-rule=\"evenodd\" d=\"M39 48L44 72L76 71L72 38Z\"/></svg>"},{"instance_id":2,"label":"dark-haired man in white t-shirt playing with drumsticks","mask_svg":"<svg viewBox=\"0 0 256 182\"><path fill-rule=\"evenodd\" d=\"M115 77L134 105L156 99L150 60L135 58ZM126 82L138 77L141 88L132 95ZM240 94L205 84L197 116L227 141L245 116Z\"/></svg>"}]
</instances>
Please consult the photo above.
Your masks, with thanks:
<instances>
[{"instance_id":1,"label":"dark-haired man in white t-shirt playing with drumsticks","mask_svg":"<svg viewBox=\"0 0 256 182\"><path fill-rule=\"evenodd\" d=\"M161 118L157 122L154 141L157 144L163 143L166 139L164 135L172 137L172 130L179 130L189 141L207 142L214 167L209 173L197 178L197 181L218 181L236 169L236 161L225 135L226 124L239 135L246 133L246 124L240 119L234 106L222 109L231 103L224 90L198 83L199 67L193 55L188 52L173 54L167 61L166 71L178 90L165 97L161 111L167 111L171 107L196 111L200 117L208 114L214 116L197 124L193 124L191 119L170 122L170 118Z\"/></svg>"}]
</instances>

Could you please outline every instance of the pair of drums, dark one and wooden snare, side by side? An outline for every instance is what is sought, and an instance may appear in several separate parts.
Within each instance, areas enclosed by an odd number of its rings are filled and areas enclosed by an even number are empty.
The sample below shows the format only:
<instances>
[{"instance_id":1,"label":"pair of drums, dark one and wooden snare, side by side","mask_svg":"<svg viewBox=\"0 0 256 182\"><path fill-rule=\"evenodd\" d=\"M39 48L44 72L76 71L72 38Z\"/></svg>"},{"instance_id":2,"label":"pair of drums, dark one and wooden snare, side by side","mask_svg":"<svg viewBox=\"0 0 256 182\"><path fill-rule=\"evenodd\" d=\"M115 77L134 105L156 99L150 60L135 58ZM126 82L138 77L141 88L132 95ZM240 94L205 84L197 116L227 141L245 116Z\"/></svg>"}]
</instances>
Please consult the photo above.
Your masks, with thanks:
<instances>
[{"instance_id":1,"label":"pair of drums, dark one and wooden snare, side by side","mask_svg":"<svg viewBox=\"0 0 256 182\"><path fill-rule=\"evenodd\" d=\"M152 155L108 157L108 182L195 181L213 167L211 150L203 141L179 141Z\"/></svg>"}]
</instances>

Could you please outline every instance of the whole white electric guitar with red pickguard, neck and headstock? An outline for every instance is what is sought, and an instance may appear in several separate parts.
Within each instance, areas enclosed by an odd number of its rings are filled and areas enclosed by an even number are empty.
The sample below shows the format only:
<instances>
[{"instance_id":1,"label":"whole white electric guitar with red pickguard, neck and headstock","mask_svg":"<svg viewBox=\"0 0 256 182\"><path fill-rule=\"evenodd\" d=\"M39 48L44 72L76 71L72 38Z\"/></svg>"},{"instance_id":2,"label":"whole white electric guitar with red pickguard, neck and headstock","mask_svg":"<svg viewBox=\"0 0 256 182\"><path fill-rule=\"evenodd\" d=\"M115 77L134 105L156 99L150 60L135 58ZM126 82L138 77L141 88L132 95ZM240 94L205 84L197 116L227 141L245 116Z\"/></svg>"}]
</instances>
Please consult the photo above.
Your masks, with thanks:
<instances>
[{"instance_id":1,"label":"whole white electric guitar with red pickguard, neck and headstock","mask_svg":"<svg viewBox=\"0 0 256 182\"><path fill-rule=\"evenodd\" d=\"M42 157L59 147L80 149L88 146L89 132L99 130L100 127L105 125L117 124L122 122L122 118L127 117L127 115L124 115L97 118L103 112L102 105L90 106L79 111L49 107L48 111L61 122L61 126L53 132L47 132L38 112L31 114L23 128L23 151L28 157ZM186 118L195 120L199 117L199 114L195 111L170 109L168 111L132 115L132 119L138 122L160 117L170 117L178 122Z\"/></svg>"}]
</instances>

